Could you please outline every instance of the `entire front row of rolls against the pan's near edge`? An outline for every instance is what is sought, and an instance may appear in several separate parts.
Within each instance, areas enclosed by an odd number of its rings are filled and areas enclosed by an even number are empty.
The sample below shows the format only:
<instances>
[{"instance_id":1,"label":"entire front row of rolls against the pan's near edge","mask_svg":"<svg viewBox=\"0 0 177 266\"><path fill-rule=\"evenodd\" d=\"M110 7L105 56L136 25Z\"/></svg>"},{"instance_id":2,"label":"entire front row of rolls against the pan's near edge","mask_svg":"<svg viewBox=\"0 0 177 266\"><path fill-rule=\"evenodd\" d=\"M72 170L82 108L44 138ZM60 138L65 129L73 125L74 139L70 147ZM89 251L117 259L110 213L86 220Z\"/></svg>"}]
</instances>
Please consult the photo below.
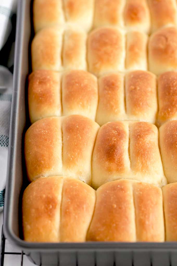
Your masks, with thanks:
<instances>
[{"instance_id":1,"label":"entire front row of rolls against the pan's near edge","mask_svg":"<svg viewBox=\"0 0 177 266\"><path fill-rule=\"evenodd\" d=\"M176 206L177 183L161 190L121 179L95 191L71 177L41 177L23 194L24 240L177 241Z\"/></svg>"}]
</instances>

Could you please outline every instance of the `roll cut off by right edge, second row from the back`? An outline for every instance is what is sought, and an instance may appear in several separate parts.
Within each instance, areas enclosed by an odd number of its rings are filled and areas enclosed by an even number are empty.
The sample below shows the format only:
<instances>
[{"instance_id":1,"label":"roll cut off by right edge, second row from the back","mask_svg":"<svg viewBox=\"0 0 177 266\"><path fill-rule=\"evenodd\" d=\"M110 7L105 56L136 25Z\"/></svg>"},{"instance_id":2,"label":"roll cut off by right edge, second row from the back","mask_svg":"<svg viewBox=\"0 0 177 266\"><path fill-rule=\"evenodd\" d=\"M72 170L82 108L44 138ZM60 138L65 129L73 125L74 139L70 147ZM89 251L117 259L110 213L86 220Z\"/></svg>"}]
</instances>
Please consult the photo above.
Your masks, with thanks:
<instances>
[{"instance_id":1,"label":"roll cut off by right edge, second row from the back","mask_svg":"<svg viewBox=\"0 0 177 266\"><path fill-rule=\"evenodd\" d=\"M149 38L149 70L156 75L177 70L177 28L162 28Z\"/></svg>"}]
</instances>

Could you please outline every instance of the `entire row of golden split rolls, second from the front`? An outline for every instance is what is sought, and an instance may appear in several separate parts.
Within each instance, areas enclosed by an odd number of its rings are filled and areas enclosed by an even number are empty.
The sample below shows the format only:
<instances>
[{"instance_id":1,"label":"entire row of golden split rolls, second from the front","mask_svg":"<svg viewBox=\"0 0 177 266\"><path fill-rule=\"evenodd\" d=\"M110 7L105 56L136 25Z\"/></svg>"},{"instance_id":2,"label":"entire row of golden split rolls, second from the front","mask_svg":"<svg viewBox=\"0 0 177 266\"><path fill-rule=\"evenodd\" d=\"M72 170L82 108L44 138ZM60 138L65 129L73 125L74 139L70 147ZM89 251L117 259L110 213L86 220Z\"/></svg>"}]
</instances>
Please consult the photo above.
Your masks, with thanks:
<instances>
[{"instance_id":1,"label":"entire row of golden split rolls, second from the front","mask_svg":"<svg viewBox=\"0 0 177 266\"><path fill-rule=\"evenodd\" d=\"M81 115L43 118L25 134L25 161L30 181L64 175L94 188L121 178L161 187L177 181L177 120L163 124L158 137L147 122L100 128Z\"/></svg>"}]
</instances>

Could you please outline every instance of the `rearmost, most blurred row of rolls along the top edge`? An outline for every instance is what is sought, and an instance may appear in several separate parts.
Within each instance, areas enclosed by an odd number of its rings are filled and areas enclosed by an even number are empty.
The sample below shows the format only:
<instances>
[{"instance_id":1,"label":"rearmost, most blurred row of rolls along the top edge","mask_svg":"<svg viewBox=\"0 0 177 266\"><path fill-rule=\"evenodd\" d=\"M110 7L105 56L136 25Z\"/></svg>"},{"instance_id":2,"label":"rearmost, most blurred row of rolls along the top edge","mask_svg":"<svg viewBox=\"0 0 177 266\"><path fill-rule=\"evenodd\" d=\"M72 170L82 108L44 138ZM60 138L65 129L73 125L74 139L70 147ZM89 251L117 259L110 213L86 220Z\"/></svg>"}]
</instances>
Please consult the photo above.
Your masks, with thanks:
<instances>
[{"instance_id":1,"label":"rearmost, most blurred row of rolls along the top edge","mask_svg":"<svg viewBox=\"0 0 177 266\"><path fill-rule=\"evenodd\" d=\"M175 0L34 0L35 31L65 23L89 31L100 26L153 32L177 26Z\"/></svg>"}]
</instances>

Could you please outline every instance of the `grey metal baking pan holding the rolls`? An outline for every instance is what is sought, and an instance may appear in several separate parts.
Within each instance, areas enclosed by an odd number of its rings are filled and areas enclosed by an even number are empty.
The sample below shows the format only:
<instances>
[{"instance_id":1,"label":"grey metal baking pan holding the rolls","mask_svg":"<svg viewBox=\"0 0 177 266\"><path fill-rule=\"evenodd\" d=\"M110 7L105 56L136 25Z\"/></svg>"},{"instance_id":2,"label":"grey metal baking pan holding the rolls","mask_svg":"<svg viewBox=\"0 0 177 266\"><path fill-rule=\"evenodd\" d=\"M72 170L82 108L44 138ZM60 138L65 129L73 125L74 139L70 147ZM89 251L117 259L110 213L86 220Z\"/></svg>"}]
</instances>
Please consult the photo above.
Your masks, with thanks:
<instances>
[{"instance_id":1,"label":"grey metal baking pan holding the rolls","mask_svg":"<svg viewBox=\"0 0 177 266\"><path fill-rule=\"evenodd\" d=\"M31 72L30 47L34 35L31 17L31 0L19 0L4 207L6 238L21 248L36 265L176 266L177 242L28 243L23 240L21 198L28 185L23 143L29 127L27 77Z\"/></svg>"}]
</instances>

